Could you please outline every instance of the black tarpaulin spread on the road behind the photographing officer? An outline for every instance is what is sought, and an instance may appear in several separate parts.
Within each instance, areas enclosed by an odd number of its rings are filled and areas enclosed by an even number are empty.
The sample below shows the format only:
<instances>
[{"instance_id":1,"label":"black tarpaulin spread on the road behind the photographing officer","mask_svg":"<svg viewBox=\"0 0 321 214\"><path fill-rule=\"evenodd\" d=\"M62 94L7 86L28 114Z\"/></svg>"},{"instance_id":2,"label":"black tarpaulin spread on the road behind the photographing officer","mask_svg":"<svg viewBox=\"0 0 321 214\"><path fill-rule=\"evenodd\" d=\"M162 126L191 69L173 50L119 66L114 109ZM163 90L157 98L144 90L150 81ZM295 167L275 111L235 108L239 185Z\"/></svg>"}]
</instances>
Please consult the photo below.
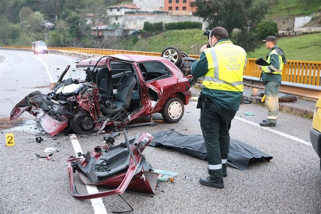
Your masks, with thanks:
<instances>
[{"instance_id":1,"label":"black tarpaulin spread on the road behind the photographing officer","mask_svg":"<svg viewBox=\"0 0 321 214\"><path fill-rule=\"evenodd\" d=\"M153 147L165 147L177 152L207 160L207 151L203 136L183 135L176 131L162 131L153 135L149 144ZM245 170L249 163L270 161L273 157L241 141L230 140L230 152L227 164L239 170Z\"/></svg>"}]
</instances>

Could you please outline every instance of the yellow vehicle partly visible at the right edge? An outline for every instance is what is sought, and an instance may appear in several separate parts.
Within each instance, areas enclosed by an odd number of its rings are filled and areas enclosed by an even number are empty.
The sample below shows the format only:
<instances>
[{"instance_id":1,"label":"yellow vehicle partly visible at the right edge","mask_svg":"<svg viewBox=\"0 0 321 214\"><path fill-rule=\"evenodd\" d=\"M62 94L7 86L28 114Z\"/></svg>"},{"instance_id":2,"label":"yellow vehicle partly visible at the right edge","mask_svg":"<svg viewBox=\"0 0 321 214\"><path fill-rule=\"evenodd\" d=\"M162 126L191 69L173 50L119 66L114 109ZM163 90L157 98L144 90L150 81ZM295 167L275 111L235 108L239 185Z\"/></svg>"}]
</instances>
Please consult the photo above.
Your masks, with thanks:
<instances>
[{"instance_id":1,"label":"yellow vehicle partly visible at the right edge","mask_svg":"<svg viewBox=\"0 0 321 214\"><path fill-rule=\"evenodd\" d=\"M310 139L313 149L319 155L321 170L321 98L316 103L316 110L313 116L312 127L310 128Z\"/></svg>"}]
</instances>

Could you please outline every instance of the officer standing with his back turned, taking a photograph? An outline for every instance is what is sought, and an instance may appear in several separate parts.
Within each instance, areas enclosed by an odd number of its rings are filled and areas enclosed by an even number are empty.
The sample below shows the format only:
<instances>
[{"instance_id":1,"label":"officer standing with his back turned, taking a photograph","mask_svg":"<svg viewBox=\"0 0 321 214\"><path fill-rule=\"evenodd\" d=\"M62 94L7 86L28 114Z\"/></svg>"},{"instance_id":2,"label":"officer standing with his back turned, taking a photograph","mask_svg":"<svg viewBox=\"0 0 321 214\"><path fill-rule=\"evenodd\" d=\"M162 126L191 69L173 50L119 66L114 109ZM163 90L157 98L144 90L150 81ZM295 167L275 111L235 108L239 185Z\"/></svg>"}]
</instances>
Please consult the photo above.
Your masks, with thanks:
<instances>
[{"instance_id":1,"label":"officer standing with his back turned, taking a photograph","mask_svg":"<svg viewBox=\"0 0 321 214\"><path fill-rule=\"evenodd\" d=\"M201 109L199 121L207 150L209 176L201 177L199 182L205 186L224 188L229 129L239 110L247 60L245 50L230 41L223 27L212 29L209 45L209 48L202 46L199 59L191 67L194 77L203 77L204 86L197 106Z\"/></svg>"}]
</instances>

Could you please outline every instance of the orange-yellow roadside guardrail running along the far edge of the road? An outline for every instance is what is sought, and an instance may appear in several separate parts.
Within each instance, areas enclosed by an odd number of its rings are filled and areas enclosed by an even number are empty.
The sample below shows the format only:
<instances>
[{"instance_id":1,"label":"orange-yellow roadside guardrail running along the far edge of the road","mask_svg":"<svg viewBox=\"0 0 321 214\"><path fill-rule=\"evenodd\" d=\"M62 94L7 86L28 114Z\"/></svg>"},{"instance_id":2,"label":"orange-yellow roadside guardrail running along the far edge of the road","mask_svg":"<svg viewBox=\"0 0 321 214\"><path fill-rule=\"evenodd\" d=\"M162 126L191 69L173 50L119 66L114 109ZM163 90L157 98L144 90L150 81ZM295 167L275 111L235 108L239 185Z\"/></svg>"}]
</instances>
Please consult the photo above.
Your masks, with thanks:
<instances>
[{"instance_id":1,"label":"orange-yellow roadside guardrail running along the far edge of the road","mask_svg":"<svg viewBox=\"0 0 321 214\"><path fill-rule=\"evenodd\" d=\"M2 46L3 48L22 48L31 50L30 46ZM82 52L88 54L113 55L113 54L136 54L160 56L158 52L144 52L132 50L114 50L80 47L48 47L49 50ZM189 55L198 58L199 55ZM248 58L248 63L244 71L244 85L264 88L260 83L261 71L255 64L255 58ZM288 60L282 70L282 85L280 92L294 94L302 97L318 99L321 97L321 61L300 61Z\"/></svg>"}]
</instances>

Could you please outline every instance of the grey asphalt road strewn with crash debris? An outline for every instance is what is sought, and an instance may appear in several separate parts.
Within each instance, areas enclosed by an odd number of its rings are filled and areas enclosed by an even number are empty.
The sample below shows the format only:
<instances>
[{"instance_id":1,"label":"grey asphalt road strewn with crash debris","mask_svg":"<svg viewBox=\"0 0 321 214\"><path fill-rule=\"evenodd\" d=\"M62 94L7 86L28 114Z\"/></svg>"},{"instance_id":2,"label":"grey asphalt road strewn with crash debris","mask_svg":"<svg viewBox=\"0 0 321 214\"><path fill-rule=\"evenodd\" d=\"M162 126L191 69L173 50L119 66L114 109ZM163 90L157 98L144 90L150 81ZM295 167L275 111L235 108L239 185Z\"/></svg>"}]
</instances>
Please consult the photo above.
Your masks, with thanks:
<instances>
[{"instance_id":1,"label":"grey asphalt road strewn with crash debris","mask_svg":"<svg viewBox=\"0 0 321 214\"><path fill-rule=\"evenodd\" d=\"M84 75L82 69L75 69L75 60L74 57L50 53L34 55L32 52L0 50L1 214L89 214L94 213L94 209L96 213L128 209L117 196L103 198L101 207L71 196L66 159L74 155L74 149L69 136L60 134L49 138L44 135L45 141L36 143L34 139L39 131L33 116L23 113L14 123L7 122L11 109L24 96L36 90L49 92L52 82L57 80L67 64L72 65L67 77ZM133 128L128 130L129 136L141 132L153 134L171 128L183 134L201 134L199 110L195 107L195 103L185 106L184 117L176 124L158 123L154 127ZM245 116L247 111L255 113L255 116ZM154 198L123 194L134 213L320 214L320 159L309 145L312 120L280 112L277 126L263 129L258 123L265 119L266 111L260 105L241 105L232 121L230 135L270 154L273 159L252 164L245 171L228 167L228 177L224 178L225 188L222 190L199 184L199 177L207 176L207 162L174 151L148 147L144 154L155 169L170 170L179 175L173 184L160 183ZM15 146L5 146L6 133L14 134ZM84 152L102 145L102 139L102 136L78 136ZM117 138L117 142L122 140L123 135ZM35 153L43 154L47 147L60 151L53 154L51 161L35 157ZM192 180L182 180L185 176ZM85 193L85 186L78 184L78 191Z\"/></svg>"}]
</instances>

